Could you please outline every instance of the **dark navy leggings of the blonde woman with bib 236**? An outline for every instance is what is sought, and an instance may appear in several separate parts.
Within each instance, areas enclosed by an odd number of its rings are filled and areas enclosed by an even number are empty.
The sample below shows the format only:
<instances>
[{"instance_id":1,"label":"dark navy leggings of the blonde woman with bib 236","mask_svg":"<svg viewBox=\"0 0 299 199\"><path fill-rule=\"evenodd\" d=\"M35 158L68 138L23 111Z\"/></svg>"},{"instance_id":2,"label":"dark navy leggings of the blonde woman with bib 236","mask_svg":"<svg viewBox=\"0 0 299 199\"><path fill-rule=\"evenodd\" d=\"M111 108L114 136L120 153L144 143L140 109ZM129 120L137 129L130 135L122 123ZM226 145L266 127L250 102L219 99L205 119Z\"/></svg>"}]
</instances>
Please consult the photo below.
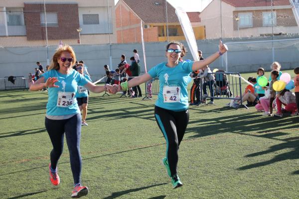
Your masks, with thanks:
<instances>
[{"instance_id":1,"label":"dark navy leggings of the blonde woman with bib 236","mask_svg":"<svg viewBox=\"0 0 299 199\"><path fill-rule=\"evenodd\" d=\"M51 167L57 167L63 151L64 133L70 153L70 163L74 184L80 183L82 160L80 155L81 114L68 119L54 120L46 117L45 126L50 136L53 149L50 153Z\"/></svg>"}]
</instances>

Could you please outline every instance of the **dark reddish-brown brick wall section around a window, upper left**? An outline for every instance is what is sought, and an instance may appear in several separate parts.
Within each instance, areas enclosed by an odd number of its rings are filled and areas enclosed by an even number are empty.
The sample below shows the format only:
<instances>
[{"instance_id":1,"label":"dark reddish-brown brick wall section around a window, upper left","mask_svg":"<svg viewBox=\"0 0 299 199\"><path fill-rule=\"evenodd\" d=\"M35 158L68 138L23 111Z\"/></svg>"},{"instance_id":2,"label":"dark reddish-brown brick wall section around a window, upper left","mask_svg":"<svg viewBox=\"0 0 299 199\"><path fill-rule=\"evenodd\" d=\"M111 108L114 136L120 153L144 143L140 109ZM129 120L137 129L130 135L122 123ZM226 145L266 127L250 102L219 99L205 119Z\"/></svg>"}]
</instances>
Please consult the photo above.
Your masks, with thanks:
<instances>
[{"instance_id":1,"label":"dark reddish-brown brick wall section around a window, upper left","mask_svg":"<svg viewBox=\"0 0 299 199\"><path fill-rule=\"evenodd\" d=\"M24 20L27 40L46 39L45 26L40 24L40 12L44 12L42 3L24 3ZM46 4L46 12L57 13L58 26L48 26L48 39L79 39L78 4L51 3Z\"/></svg>"}]
</instances>

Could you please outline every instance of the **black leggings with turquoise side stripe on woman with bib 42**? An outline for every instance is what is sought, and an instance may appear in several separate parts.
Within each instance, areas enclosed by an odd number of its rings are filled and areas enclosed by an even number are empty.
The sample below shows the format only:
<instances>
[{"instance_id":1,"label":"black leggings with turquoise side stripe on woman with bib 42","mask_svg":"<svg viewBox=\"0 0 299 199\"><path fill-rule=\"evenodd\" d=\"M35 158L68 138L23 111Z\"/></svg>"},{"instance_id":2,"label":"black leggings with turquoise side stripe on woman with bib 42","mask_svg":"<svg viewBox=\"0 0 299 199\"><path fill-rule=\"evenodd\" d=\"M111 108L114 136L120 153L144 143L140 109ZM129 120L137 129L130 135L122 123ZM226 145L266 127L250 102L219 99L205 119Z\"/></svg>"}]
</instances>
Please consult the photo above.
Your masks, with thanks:
<instances>
[{"instance_id":1,"label":"black leggings with turquoise side stripe on woman with bib 42","mask_svg":"<svg viewBox=\"0 0 299 199\"><path fill-rule=\"evenodd\" d=\"M166 140L166 158L171 175L175 175L178 147L187 128L189 111L173 111L155 106L154 117Z\"/></svg>"}]
</instances>

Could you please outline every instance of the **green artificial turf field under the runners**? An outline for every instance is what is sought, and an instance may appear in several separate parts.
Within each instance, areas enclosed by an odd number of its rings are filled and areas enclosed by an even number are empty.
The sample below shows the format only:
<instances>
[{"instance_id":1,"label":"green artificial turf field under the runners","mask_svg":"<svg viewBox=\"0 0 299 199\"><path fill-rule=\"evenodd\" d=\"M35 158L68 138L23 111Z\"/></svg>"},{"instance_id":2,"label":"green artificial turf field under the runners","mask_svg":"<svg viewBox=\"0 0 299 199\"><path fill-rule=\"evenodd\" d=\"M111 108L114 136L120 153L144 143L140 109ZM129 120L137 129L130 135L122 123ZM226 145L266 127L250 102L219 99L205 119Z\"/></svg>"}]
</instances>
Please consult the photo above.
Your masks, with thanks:
<instances>
[{"instance_id":1,"label":"green artificial turf field under the runners","mask_svg":"<svg viewBox=\"0 0 299 199\"><path fill-rule=\"evenodd\" d=\"M244 74L249 76L257 75ZM243 90L245 86L242 82ZM82 184L90 190L85 198L299 198L299 116L262 116L254 107L225 106L229 100L191 106L179 150L184 186L173 190L160 164L166 145L153 116L156 96L102 95L91 94L88 126L82 127ZM44 127L46 102L46 92L0 92L0 198L71 196L66 142L58 164L61 183L54 187L49 181L52 146Z\"/></svg>"}]
</instances>

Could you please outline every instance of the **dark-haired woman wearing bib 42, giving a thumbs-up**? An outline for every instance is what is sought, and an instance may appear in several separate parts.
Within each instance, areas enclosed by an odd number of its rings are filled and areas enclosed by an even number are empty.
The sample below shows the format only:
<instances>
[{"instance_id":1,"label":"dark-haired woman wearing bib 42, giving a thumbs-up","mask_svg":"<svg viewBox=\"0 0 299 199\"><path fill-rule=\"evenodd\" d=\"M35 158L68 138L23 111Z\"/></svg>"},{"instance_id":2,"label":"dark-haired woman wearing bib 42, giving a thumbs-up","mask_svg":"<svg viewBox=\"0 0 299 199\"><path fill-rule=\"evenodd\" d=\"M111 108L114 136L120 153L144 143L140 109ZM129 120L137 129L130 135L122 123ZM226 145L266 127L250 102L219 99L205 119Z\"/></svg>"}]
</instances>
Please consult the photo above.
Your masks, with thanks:
<instances>
[{"instance_id":1,"label":"dark-haired woman wearing bib 42, giving a thumbs-up","mask_svg":"<svg viewBox=\"0 0 299 199\"><path fill-rule=\"evenodd\" d=\"M160 63L148 73L124 82L121 86L114 85L113 93L127 91L144 82L158 77L159 94L155 103L154 116L166 140L166 157L162 159L167 174L171 178L173 188L181 187L176 167L178 162L178 148L183 139L189 121L187 85L190 73L211 64L227 51L225 44L220 41L219 51L195 62L180 62L182 44L170 42L166 47L167 62Z\"/></svg>"}]
</instances>

